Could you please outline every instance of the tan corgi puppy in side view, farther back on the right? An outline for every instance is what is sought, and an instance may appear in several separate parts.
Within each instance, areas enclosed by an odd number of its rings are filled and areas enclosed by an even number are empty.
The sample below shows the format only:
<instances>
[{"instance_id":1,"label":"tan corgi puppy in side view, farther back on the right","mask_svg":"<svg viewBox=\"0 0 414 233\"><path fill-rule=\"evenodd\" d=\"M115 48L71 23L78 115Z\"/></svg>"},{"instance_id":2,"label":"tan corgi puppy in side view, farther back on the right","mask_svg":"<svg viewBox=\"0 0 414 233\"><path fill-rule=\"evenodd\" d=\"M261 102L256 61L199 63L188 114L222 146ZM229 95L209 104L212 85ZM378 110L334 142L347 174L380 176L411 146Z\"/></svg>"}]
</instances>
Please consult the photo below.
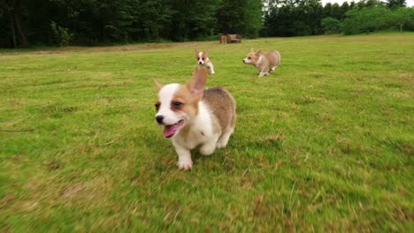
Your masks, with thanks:
<instances>
[{"instance_id":1,"label":"tan corgi puppy in side view, farther back on the right","mask_svg":"<svg viewBox=\"0 0 414 233\"><path fill-rule=\"evenodd\" d=\"M253 64L257 71L260 71L258 77L269 75L280 64L280 53L277 50L270 50L265 55L262 54L262 49L255 52L250 49L250 52L243 59L244 64Z\"/></svg>"}]
</instances>

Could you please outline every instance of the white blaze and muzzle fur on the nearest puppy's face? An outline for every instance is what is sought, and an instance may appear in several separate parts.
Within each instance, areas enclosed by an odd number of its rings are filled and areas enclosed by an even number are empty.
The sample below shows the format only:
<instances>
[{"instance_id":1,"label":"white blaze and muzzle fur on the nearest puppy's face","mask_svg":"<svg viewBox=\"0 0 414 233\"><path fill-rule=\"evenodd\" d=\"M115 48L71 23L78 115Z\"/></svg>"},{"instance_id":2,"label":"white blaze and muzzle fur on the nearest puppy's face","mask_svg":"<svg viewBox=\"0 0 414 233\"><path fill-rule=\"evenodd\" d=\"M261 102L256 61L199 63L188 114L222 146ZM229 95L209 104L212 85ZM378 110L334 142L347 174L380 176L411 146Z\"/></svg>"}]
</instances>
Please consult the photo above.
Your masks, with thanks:
<instances>
[{"instance_id":1,"label":"white blaze and muzzle fur on the nearest puppy's face","mask_svg":"<svg viewBox=\"0 0 414 233\"><path fill-rule=\"evenodd\" d=\"M176 124L180 120L183 119L180 112L174 112L171 109L171 101L173 101L174 94L180 88L180 84L173 83L163 86L158 93L158 100L160 101L161 105L159 106L157 116L164 116L164 124Z\"/></svg>"}]
</instances>

